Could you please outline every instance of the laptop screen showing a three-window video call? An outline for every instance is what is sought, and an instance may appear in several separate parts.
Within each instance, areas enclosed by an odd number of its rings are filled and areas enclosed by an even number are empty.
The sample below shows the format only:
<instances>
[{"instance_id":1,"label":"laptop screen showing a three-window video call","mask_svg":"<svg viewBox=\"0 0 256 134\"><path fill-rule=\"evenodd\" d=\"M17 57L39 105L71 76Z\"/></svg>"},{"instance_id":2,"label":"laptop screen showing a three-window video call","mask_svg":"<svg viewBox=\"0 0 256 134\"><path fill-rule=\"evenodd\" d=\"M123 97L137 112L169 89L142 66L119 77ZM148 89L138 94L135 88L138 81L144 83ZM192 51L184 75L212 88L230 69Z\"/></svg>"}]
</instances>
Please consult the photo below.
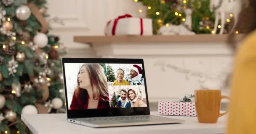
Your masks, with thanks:
<instances>
[{"instance_id":1,"label":"laptop screen showing a three-window video call","mask_svg":"<svg viewBox=\"0 0 256 134\"><path fill-rule=\"evenodd\" d=\"M64 63L68 110L147 107L142 64Z\"/></svg>"}]
</instances>

